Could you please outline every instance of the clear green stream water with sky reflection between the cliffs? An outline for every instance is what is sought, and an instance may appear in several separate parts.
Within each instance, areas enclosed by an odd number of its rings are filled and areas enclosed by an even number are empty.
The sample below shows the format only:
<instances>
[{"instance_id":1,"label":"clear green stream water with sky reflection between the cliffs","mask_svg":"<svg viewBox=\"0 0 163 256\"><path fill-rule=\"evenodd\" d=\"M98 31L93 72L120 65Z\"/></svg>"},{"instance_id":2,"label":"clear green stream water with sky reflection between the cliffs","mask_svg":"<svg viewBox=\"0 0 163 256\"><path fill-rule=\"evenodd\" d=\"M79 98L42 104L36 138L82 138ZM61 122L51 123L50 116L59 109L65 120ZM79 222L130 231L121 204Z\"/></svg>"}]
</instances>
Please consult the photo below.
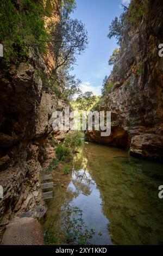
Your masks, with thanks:
<instances>
[{"instance_id":1,"label":"clear green stream water with sky reflection between the cliffs","mask_svg":"<svg viewBox=\"0 0 163 256\"><path fill-rule=\"evenodd\" d=\"M163 245L163 199L158 197L162 164L89 143L80 148L71 175L55 172L45 228L53 218L56 233L64 209L77 206L87 227L95 229L92 244Z\"/></svg>"}]
</instances>

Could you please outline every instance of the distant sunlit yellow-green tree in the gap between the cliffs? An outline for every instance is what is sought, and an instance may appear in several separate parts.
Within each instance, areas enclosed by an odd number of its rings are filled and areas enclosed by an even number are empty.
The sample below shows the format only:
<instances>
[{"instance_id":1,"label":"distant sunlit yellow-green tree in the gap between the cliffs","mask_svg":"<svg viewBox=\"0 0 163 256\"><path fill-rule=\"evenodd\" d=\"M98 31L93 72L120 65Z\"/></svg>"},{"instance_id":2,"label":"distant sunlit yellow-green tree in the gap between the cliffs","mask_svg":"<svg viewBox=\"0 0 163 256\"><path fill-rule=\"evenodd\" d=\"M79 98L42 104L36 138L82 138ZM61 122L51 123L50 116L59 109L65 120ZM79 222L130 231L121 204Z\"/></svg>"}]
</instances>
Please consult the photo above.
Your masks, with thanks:
<instances>
[{"instance_id":1,"label":"distant sunlit yellow-green tree in the gap between the cliffs","mask_svg":"<svg viewBox=\"0 0 163 256\"><path fill-rule=\"evenodd\" d=\"M89 110L89 108L92 107L93 103L95 103L95 101L96 96L93 95L92 92L81 93L81 95L78 96L76 99L79 109L86 111L86 113Z\"/></svg>"}]
</instances>

